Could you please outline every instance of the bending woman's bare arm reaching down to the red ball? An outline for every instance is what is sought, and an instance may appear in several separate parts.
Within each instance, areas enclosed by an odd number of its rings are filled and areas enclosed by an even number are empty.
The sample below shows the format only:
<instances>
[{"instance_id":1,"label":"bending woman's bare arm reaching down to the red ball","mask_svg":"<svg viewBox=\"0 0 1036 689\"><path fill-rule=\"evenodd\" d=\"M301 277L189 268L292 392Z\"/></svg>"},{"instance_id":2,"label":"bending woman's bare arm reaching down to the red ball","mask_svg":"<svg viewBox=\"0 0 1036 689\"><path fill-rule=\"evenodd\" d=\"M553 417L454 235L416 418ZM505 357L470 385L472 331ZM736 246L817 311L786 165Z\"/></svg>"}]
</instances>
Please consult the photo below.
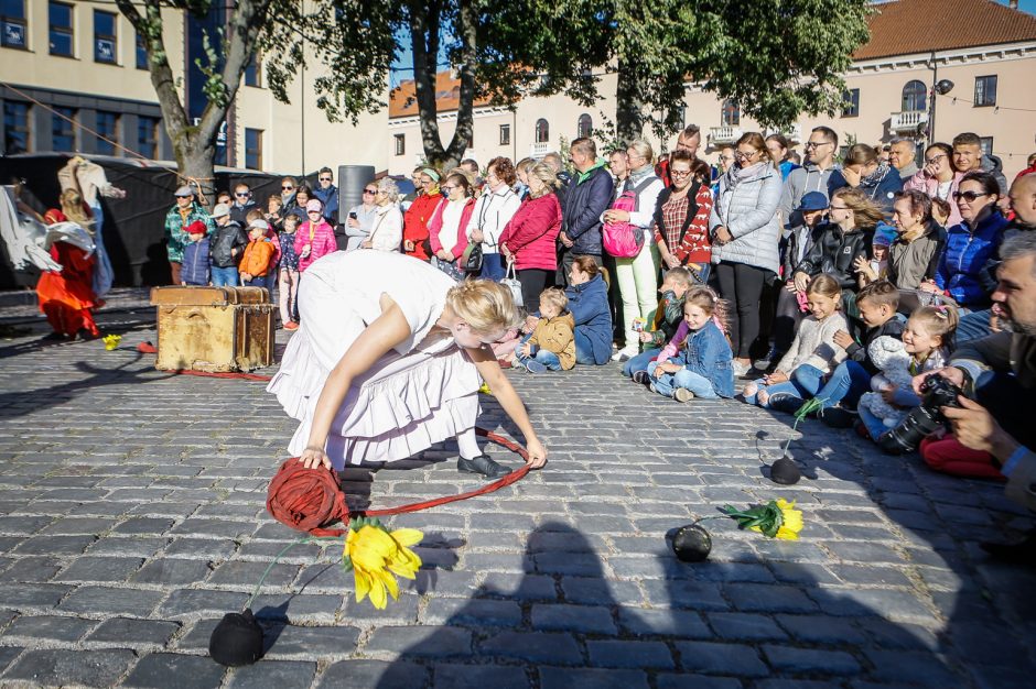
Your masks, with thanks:
<instances>
[{"instance_id":1,"label":"bending woman's bare arm reaching down to the red ball","mask_svg":"<svg viewBox=\"0 0 1036 689\"><path fill-rule=\"evenodd\" d=\"M321 390L320 398L316 401L316 412L313 414L313 426L310 428L310 438L305 450L299 457L299 461L306 469L321 464L325 469L331 469L331 460L324 451L324 446L331 433L331 424L353 381L357 375L367 372L378 359L410 335L410 324L403 317L399 305L387 295L382 295L381 315L367 326L346 350L335 368L331 370Z\"/></svg>"}]
</instances>

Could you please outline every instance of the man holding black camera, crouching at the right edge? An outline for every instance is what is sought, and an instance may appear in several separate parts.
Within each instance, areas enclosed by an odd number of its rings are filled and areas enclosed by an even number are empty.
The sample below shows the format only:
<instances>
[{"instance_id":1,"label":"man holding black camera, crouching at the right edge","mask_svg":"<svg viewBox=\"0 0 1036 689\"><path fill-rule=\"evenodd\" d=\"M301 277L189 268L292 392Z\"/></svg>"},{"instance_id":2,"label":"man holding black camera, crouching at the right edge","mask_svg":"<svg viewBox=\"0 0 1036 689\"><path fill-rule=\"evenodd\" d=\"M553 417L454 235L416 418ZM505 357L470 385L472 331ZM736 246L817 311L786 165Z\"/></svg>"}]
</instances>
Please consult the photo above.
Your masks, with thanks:
<instances>
[{"instance_id":1,"label":"man holding black camera, crouching at the right edge","mask_svg":"<svg viewBox=\"0 0 1036 689\"><path fill-rule=\"evenodd\" d=\"M1036 510L1036 232L1006 240L1000 256L992 310L1004 330L965 342L947 368L915 378L914 389L927 392L931 375L956 385L959 406L940 411L957 439L992 455L1007 496ZM982 545L994 557L1036 564L1036 531L1017 545Z\"/></svg>"}]
</instances>

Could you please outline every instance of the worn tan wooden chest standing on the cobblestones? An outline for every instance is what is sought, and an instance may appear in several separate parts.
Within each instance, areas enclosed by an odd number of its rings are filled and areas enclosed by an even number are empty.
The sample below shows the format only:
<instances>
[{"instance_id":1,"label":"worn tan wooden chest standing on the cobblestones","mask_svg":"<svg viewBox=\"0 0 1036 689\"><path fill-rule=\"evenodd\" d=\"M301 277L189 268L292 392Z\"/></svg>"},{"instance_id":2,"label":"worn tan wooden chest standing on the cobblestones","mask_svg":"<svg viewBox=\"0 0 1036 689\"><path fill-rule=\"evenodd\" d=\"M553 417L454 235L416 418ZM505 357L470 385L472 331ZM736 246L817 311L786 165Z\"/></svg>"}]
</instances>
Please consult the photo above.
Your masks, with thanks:
<instances>
[{"instance_id":1,"label":"worn tan wooden chest standing on the cobblestones","mask_svg":"<svg viewBox=\"0 0 1036 689\"><path fill-rule=\"evenodd\" d=\"M263 287L154 287L162 371L251 371L273 363L273 311Z\"/></svg>"}]
</instances>

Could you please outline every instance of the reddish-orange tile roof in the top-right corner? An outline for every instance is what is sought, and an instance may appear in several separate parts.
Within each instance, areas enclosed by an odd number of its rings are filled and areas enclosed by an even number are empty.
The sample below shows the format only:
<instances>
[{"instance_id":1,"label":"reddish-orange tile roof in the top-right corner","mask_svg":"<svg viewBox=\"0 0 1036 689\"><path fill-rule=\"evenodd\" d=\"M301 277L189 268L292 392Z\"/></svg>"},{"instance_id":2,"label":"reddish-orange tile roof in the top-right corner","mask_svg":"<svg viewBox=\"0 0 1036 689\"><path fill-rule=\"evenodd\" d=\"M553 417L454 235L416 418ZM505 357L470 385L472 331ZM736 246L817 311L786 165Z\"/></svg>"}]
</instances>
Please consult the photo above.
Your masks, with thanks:
<instances>
[{"instance_id":1,"label":"reddish-orange tile roof in the top-right corner","mask_svg":"<svg viewBox=\"0 0 1036 689\"><path fill-rule=\"evenodd\" d=\"M993 0L876 2L871 41L854 59L1036 40L1036 17Z\"/></svg>"}]
</instances>

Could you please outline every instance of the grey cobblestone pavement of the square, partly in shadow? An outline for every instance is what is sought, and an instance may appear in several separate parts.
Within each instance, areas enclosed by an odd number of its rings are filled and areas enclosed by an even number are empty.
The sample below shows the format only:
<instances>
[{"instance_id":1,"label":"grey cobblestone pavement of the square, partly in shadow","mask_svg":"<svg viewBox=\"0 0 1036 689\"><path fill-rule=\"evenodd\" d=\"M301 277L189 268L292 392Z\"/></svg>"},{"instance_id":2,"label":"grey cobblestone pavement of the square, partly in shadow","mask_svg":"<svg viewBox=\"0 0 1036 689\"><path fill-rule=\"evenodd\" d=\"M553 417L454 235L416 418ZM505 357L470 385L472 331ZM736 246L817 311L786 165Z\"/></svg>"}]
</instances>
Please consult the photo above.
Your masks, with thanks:
<instances>
[{"instance_id":1,"label":"grey cobblestone pavement of the square, partly in shadow","mask_svg":"<svg viewBox=\"0 0 1036 689\"><path fill-rule=\"evenodd\" d=\"M978 547L1032 524L1000 485L808 422L792 449L810 477L778 486L760 457L779 453L787 417L679 405L615 364L511 373L548 469L393 517L425 532L424 568L385 612L352 599L337 548L290 551L253 605L266 657L227 670L207 657L213 626L295 538L265 511L293 423L261 383L154 371L134 351L154 339L147 309L132 311L99 319L128 329L114 352L44 346L40 322L0 341L0 683L1032 686L1036 575ZM454 457L353 469L346 485L374 506L478 485ZM798 501L801 540L715 521L709 562L670 555L667 531L774 496Z\"/></svg>"}]
</instances>

